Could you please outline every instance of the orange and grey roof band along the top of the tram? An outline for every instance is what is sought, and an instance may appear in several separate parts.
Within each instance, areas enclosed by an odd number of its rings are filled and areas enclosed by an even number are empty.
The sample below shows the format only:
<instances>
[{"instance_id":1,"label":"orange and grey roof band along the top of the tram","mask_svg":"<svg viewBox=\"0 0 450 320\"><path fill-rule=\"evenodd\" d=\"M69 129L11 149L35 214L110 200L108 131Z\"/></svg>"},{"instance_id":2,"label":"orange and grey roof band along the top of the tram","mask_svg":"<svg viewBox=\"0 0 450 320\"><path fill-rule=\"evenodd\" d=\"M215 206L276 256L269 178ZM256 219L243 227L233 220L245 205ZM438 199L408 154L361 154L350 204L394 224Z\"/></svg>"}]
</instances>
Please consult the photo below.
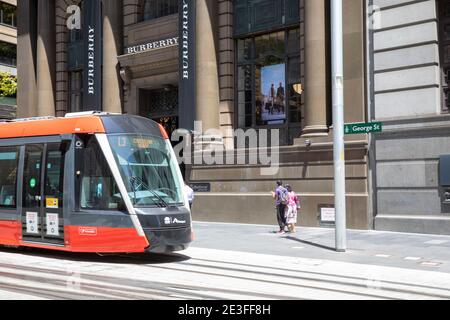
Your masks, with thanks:
<instances>
[{"instance_id":1,"label":"orange and grey roof band along the top of the tram","mask_svg":"<svg viewBox=\"0 0 450 320\"><path fill-rule=\"evenodd\" d=\"M64 118L29 118L0 123L0 139L97 133L148 133L165 137L156 122L132 115L68 114Z\"/></svg>"}]
</instances>

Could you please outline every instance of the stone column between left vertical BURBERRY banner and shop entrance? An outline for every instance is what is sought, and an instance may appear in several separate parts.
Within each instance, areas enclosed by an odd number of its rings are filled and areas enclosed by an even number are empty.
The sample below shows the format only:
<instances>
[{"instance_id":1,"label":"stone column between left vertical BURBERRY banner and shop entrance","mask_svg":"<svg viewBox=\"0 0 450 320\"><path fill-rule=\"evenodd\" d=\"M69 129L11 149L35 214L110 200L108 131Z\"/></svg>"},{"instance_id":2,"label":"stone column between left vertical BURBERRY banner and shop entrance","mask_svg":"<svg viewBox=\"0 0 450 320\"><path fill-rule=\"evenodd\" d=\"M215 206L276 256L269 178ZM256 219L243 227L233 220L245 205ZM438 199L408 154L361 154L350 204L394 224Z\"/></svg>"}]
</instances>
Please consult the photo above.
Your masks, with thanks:
<instances>
[{"instance_id":1,"label":"stone column between left vertical BURBERRY banner and shop entrance","mask_svg":"<svg viewBox=\"0 0 450 320\"><path fill-rule=\"evenodd\" d=\"M122 113L119 61L122 53L122 0L103 0L103 111Z\"/></svg>"}]
</instances>

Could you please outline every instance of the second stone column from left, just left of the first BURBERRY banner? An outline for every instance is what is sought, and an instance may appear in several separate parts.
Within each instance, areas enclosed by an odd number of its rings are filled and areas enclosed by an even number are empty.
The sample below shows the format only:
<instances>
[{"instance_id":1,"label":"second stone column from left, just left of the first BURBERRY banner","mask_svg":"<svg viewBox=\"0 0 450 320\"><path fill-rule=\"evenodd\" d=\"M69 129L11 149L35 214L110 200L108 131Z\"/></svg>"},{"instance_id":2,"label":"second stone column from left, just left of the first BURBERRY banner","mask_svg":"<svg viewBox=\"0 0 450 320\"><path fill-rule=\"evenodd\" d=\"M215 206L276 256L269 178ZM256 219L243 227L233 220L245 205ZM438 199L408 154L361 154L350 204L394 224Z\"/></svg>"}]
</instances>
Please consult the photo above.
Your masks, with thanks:
<instances>
[{"instance_id":1,"label":"second stone column from left, just left of the first BURBERRY banner","mask_svg":"<svg viewBox=\"0 0 450 320\"><path fill-rule=\"evenodd\" d=\"M37 115L55 115L55 1L39 0L37 14Z\"/></svg>"}]
</instances>

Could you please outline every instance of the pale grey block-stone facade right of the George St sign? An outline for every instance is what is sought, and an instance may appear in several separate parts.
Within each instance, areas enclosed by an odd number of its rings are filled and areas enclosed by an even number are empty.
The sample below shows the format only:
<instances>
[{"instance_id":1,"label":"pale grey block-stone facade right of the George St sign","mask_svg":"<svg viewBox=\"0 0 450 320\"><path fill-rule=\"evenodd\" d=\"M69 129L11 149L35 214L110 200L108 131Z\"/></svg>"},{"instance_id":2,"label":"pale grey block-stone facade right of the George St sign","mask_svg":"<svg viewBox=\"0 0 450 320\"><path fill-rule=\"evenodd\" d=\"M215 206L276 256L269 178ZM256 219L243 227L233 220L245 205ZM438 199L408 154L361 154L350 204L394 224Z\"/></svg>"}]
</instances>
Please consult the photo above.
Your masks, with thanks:
<instances>
[{"instance_id":1,"label":"pale grey block-stone facade right of the George St sign","mask_svg":"<svg viewBox=\"0 0 450 320\"><path fill-rule=\"evenodd\" d=\"M450 1L368 5L375 228L450 234Z\"/></svg>"}]
</instances>

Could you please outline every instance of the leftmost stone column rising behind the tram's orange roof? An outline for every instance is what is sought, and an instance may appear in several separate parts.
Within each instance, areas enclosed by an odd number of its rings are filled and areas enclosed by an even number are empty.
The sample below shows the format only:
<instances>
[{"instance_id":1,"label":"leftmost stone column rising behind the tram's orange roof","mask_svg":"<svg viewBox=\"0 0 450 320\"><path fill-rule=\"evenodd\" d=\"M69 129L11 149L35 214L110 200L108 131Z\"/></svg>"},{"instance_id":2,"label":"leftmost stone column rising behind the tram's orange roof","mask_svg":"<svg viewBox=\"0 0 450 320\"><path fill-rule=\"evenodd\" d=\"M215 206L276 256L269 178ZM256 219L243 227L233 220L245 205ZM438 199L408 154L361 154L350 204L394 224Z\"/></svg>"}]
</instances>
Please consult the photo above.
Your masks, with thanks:
<instances>
[{"instance_id":1,"label":"leftmost stone column rising behind the tram's orange roof","mask_svg":"<svg viewBox=\"0 0 450 320\"><path fill-rule=\"evenodd\" d=\"M19 0L17 6L17 117L37 115L36 12L32 0Z\"/></svg>"}]
</instances>

